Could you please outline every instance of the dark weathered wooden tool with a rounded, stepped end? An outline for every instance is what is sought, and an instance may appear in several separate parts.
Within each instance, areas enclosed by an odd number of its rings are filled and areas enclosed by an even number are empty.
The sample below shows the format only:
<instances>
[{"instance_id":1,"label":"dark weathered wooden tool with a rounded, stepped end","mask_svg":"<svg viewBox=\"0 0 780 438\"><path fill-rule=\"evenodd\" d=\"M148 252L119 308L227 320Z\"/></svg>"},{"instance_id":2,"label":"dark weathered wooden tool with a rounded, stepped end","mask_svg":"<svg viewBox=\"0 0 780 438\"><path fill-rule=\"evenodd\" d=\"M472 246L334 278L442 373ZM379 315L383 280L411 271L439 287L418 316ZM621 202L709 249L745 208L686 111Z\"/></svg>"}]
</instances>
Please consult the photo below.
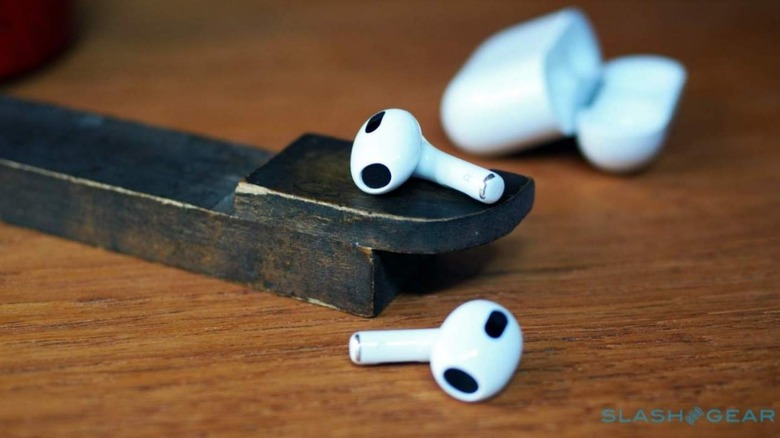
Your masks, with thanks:
<instances>
[{"instance_id":1,"label":"dark weathered wooden tool with a rounded, stepped end","mask_svg":"<svg viewBox=\"0 0 780 438\"><path fill-rule=\"evenodd\" d=\"M307 134L271 158L0 97L0 220L370 317L420 254L491 242L533 204L533 181L505 172L491 206L416 179L367 195L350 148Z\"/></svg>"}]
</instances>

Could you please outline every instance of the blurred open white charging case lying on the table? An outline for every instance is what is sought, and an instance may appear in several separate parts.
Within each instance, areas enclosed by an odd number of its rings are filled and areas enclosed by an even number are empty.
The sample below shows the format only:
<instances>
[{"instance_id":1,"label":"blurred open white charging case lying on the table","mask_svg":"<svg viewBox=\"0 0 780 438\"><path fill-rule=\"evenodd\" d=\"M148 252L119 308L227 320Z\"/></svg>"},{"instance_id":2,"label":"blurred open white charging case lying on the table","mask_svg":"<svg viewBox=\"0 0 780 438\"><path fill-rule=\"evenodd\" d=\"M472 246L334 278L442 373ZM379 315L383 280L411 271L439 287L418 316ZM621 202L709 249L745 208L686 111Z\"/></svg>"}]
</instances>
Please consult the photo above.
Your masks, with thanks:
<instances>
[{"instance_id":1,"label":"blurred open white charging case lying on the table","mask_svg":"<svg viewBox=\"0 0 780 438\"><path fill-rule=\"evenodd\" d=\"M471 153L574 135L594 165L629 172L660 151L685 79L680 63L661 56L602 62L588 19L568 8L483 42L447 86L441 119Z\"/></svg>"}]
</instances>

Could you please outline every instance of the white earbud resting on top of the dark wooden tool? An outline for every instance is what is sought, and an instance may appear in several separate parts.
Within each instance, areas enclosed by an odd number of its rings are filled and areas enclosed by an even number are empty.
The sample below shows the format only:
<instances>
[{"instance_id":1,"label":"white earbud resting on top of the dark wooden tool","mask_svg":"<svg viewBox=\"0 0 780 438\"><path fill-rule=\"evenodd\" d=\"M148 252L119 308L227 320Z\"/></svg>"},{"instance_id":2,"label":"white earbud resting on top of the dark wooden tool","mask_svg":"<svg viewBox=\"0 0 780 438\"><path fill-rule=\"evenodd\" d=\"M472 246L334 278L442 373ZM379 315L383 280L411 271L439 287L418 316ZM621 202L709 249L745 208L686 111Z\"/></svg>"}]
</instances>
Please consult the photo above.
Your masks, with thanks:
<instances>
[{"instance_id":1,"label":"white earbud resting on top of the dark wooden tool","mask_svg":"<svg viewBox=\"0 0 780 438\"><path fill-rule=\"evenodd\" d=\"M398 188L411 176L424 178L492 204L504 193L504 180L487 169L448 155L423 137L408 111L380 111L355 137L350 161L360 190L378 195Z\"/></svg>"}]
</instances>

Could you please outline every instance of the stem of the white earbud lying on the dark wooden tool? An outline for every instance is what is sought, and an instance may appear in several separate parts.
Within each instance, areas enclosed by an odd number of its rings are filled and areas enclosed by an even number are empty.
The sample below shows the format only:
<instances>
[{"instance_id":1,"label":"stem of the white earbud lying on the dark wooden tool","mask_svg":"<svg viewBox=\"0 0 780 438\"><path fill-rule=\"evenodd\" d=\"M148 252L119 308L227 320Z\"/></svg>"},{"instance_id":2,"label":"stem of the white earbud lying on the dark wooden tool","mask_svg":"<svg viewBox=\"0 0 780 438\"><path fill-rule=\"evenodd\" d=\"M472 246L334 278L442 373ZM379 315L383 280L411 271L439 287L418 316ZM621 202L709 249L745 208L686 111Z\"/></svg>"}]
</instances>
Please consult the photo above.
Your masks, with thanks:
<instances>
[{"instance_id":1,"label":"stem of the white earbud lying on the dark wooden tool","mask_svg":"<svg viewBox=\"0 0 780 438\"><path fill-rule=\"evenodd\" d=\"M465 193L477 201L492 204L504 194L504 180L490 170L440 151L424 137L414 176Z\"/></svg>"}]
</instances>

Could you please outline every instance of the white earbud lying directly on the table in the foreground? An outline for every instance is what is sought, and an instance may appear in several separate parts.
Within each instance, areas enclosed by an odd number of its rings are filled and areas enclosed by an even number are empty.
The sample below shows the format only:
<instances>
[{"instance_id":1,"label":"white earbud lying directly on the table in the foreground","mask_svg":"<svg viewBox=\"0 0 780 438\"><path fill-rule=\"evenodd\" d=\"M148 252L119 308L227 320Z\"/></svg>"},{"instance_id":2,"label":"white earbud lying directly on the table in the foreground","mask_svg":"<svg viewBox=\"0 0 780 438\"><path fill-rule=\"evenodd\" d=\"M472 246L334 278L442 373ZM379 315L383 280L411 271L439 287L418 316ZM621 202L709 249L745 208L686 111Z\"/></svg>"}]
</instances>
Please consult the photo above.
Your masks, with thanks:
<instances>
[{"instance_id":1,"label":"white earbud lying directly on the table in the foreground","mask_svg":"<svg viewBox=\"0 0 780 438\"><path fill-rule=\"evenodd\" d=\"M504 307L487 300L461 304L438 329L357 332L349 356L357 365L430 362L436 383L458 400L496 395L520 363L523 332Z\"/></svg>"}]
</instances>

